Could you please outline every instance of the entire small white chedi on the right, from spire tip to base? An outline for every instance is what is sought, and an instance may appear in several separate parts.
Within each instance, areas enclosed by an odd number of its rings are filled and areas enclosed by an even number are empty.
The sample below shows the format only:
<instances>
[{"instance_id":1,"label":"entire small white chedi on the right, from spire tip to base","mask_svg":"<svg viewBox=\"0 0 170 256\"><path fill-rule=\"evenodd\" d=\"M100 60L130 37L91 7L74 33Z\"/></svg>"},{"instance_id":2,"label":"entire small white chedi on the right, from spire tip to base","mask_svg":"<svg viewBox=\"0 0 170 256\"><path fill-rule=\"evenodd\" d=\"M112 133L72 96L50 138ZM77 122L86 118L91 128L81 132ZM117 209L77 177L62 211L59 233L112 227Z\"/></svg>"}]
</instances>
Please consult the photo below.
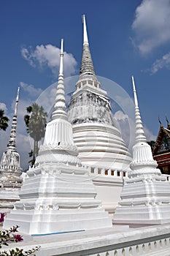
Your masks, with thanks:
<instances>
[{"instance_id":1,"label":"entire small white chedi on the right, from spire tip to base","mask_svg":"<svg viewBox=\"0 0 170 256\"><path fill-rule=\"evenodd\" d=\"M131 226L155 225L169 222L170 187L161 175L147 143L139 112L134 77L134 103L136 140L129 179L125 179L120 203L115 211L114 223ZM166 192L165 192L166 191Z\"/></svg>"}]
</instances>

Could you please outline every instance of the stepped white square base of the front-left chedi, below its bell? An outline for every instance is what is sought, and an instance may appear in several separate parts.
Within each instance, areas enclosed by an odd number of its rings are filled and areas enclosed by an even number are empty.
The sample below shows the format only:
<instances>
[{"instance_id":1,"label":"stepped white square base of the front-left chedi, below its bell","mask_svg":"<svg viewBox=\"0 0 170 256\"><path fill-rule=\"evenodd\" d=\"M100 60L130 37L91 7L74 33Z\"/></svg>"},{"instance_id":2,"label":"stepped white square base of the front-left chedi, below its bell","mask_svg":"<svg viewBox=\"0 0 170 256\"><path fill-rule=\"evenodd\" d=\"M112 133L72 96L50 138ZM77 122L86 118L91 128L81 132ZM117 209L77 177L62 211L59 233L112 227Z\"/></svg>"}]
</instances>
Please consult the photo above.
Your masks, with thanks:
<instances>
[{"instance_id":1,"label":"stepped white square base of the front-left chedi, below its bell","mask_svg":"<svg viewBox=\"0 0 170 256\"><path fill-rule=\"evenodd\" d=\"M59 163L31 168L20 190L20 202L4 227L19 225L29 234L60 233L111 227L111 219L95 199L88 170Z\"/></svg>"}]
</instances>

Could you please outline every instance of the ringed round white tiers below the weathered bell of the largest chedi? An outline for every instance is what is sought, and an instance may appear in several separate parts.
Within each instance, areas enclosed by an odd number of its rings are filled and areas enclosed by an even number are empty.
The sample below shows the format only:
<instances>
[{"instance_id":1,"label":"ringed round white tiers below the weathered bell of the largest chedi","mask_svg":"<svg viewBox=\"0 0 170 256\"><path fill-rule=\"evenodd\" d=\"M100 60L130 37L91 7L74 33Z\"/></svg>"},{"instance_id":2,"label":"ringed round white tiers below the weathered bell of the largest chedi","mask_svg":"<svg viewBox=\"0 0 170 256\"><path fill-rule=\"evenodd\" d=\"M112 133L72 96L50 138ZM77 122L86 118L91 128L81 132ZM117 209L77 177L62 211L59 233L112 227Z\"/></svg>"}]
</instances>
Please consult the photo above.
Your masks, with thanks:
<instances>
[{"instance_id":1,"label":"ringed round white tiers below the weathered bell of the largest chedi","mask_svg":"<svg viewBox=\"0 0 170 256\"><path fill-rule=\"evenodd\" d=\"M83 164L114 170L128 170L131 155L120 132L108 124L73 125L74 143Z\"/></svg>"}]
</instances>

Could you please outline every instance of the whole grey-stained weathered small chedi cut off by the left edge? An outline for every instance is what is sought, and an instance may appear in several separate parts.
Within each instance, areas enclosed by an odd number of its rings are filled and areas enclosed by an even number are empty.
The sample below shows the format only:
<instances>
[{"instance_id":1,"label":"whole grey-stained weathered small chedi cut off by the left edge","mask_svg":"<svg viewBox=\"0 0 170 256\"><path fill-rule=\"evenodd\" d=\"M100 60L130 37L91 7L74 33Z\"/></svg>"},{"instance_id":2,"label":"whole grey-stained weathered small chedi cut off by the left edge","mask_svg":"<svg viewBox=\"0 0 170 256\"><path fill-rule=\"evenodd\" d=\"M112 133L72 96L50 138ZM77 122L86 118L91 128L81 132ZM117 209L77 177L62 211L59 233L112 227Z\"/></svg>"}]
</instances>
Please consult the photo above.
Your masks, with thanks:
<instances>
[{"instance_id":1,"label":"whole grey-stained weathered small chedi cut off by the left edge","mask_svg":"<svg viewBox=\"0 0 170 256\"><path fill-rule=\"evenodd\" d=\"M2 154L0 163L0 212L10 211L14 203L20 200L18 193L22 185L22 169L20 167L20 155L16 147L19 91L20 88L18 87L9 143L7 144L7 151Z\"/></svg>"}]
</instances>

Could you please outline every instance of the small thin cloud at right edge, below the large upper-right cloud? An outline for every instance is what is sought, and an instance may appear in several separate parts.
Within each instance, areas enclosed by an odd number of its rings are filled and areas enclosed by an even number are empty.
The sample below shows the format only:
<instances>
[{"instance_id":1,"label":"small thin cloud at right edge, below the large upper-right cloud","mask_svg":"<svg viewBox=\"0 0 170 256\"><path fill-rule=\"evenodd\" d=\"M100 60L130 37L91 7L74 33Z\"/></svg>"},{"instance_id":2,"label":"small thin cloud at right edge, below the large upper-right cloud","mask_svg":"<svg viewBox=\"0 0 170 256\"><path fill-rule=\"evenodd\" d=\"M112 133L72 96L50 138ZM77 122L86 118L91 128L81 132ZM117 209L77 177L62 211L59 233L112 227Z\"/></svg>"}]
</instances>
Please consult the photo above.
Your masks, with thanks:
<instances>
[{"instance_id":1,"label":"small thin cloud at right edge, below the large upper-right cloud","mask_svg":"<svg viewBox=\"0 0 170 256\"><path fill-rule=\"evenodd\" d=\"M152 74L155 74L156 72L158 72L159 69L163 69L163 67L166 67L166 69L170 69L170 53L166 53L161 59L157 59L152 64L150 72Z\"/></svg>"}]
</instances>

